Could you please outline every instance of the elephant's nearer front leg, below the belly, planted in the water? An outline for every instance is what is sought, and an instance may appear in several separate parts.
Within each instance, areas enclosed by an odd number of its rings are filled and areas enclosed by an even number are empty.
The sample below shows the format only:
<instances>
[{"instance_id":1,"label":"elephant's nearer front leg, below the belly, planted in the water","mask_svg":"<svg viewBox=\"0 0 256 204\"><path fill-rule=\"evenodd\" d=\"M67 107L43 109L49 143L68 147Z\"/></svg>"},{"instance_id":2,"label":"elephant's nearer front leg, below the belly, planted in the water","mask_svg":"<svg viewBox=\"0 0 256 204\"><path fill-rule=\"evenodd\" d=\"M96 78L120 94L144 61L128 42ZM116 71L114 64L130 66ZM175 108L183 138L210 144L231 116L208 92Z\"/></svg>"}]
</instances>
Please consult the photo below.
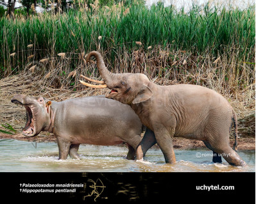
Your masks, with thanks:
<instances>
[{"instance_id":1,"label":"elephant's nearer front leg, below the belly, planted in the water","mask_svg":"<svg viewBox=\"0 0 256 204\"><path fill-rule=\"evenodd\" d=\"M173 164L176 162L175 151L173 150L173 136L175 134L175 129L167 131L166 129L155 130L155 138L157 140L157 145L162 150L164 154L164 159L166 163Z\"/></svg>"}]
</instances>

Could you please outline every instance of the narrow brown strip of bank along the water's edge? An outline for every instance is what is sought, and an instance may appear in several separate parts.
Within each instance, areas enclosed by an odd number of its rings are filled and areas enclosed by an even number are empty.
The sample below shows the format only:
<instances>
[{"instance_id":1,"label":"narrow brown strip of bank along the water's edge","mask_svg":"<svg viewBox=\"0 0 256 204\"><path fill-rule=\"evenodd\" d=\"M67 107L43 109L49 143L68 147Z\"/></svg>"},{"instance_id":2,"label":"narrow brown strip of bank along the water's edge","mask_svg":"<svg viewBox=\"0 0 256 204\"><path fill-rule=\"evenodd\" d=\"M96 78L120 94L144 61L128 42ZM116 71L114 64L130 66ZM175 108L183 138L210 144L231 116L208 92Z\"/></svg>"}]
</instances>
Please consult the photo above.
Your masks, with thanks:
<instances>
[{"instance_id":1,"label":"narrow brown strip of bank along the water's edge","mask_svg":"<svg viewBox=\"0 0 256 204\"><path fill-rule=\"evenodd\" d=\"M56 137L53 134L39 134L35 137L26 137L20 134L10 135L10 134L1 134L0 139L18 139L21 141L30 141L30 142L56 142ZM230 146L233 146L234 139L230 138ZM185 139L183 137L175 137L173 139L173 146L175 149L193 149L193 148L206 148L205 144L199 140ZM157 145L153 148L158 148ZM255 137L240 137L238 139L238 149L239 150L255 150Z\"/></svg>"}]
</instances>

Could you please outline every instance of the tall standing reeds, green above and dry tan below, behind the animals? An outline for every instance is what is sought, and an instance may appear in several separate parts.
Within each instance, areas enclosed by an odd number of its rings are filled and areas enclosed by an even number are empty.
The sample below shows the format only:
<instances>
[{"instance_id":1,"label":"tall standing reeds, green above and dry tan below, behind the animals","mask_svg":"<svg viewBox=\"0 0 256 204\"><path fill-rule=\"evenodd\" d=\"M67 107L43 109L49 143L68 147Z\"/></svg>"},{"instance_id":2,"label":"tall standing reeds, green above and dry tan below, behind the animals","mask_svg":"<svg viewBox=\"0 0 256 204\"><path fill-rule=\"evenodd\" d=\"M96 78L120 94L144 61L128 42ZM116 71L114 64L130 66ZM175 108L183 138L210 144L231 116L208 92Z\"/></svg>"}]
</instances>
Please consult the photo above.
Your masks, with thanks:
<instances>
[{"instance_id":1,"label":"tall standing reeds, green above and dry tan below, behind the animals","mask_svg":"<svg viewBox=\"0 0 256 204\"><path fill-rule=\"evenodd\" d=\"M172 80L232 92L255 79L255 6L194 5L185 13L134 3L3 17L0 44L2 76L30 68L53 86L73 87L78 74L99 77L84 60L87 52L98 50L113 72L142 72L164 84Z\"/></svg>"}]
</instances>

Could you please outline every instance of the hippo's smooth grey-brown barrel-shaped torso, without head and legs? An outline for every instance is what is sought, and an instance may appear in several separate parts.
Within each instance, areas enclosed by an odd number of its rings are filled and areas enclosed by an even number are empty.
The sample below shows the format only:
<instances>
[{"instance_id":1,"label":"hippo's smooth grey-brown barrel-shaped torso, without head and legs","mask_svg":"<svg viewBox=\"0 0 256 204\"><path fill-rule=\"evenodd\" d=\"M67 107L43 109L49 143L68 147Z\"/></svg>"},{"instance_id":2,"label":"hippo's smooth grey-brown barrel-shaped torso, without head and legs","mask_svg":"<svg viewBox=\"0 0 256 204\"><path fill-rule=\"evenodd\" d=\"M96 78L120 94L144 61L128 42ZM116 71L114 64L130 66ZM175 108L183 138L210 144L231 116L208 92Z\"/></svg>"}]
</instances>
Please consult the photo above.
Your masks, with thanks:
<instances>
[{"instance_id":1,"label":"hippo's smooth grey-brown barrel-shaped torso, without head and legs","mask_svg":"<svg viewBox=\"0 0 256 204\"><path fill-rule=\"evenodd\" d=\"M82 97L53 102L54 106L58 107L55 134L69 141L114 145L115 138L140 135L142 131L142 123L132 108L116 100L101 96Z\"/></svg>"}]
</instances>

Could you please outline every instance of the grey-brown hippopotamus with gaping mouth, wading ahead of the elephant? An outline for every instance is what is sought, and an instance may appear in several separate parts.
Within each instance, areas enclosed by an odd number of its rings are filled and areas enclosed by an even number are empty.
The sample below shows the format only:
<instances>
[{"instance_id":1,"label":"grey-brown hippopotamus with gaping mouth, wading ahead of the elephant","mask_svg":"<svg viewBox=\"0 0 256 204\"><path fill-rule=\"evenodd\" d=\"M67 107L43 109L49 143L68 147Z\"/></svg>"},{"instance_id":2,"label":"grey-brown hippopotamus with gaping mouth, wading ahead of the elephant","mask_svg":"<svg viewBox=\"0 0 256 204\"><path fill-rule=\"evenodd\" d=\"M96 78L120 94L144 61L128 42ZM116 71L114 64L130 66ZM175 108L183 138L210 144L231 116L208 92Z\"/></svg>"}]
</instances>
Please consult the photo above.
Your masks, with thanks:
<instances>
[{"instance_id":1,"label":"grey-brown hippopotamus with gaping mouth, wading ahead of the elephant","mask_svg":"<svg viewBox=\"0 0 256 204\"><path fill-rule=\"evenodd\" d=\"M44 97L16 94L11 100L26 108L24 136L41 131L56 136L59 159L80 159L80 144L117 145L126 143L127 159L135 159L144 129L132 108L105 96L80 97L55 102Z\"/></svg>"}]
</instances>

